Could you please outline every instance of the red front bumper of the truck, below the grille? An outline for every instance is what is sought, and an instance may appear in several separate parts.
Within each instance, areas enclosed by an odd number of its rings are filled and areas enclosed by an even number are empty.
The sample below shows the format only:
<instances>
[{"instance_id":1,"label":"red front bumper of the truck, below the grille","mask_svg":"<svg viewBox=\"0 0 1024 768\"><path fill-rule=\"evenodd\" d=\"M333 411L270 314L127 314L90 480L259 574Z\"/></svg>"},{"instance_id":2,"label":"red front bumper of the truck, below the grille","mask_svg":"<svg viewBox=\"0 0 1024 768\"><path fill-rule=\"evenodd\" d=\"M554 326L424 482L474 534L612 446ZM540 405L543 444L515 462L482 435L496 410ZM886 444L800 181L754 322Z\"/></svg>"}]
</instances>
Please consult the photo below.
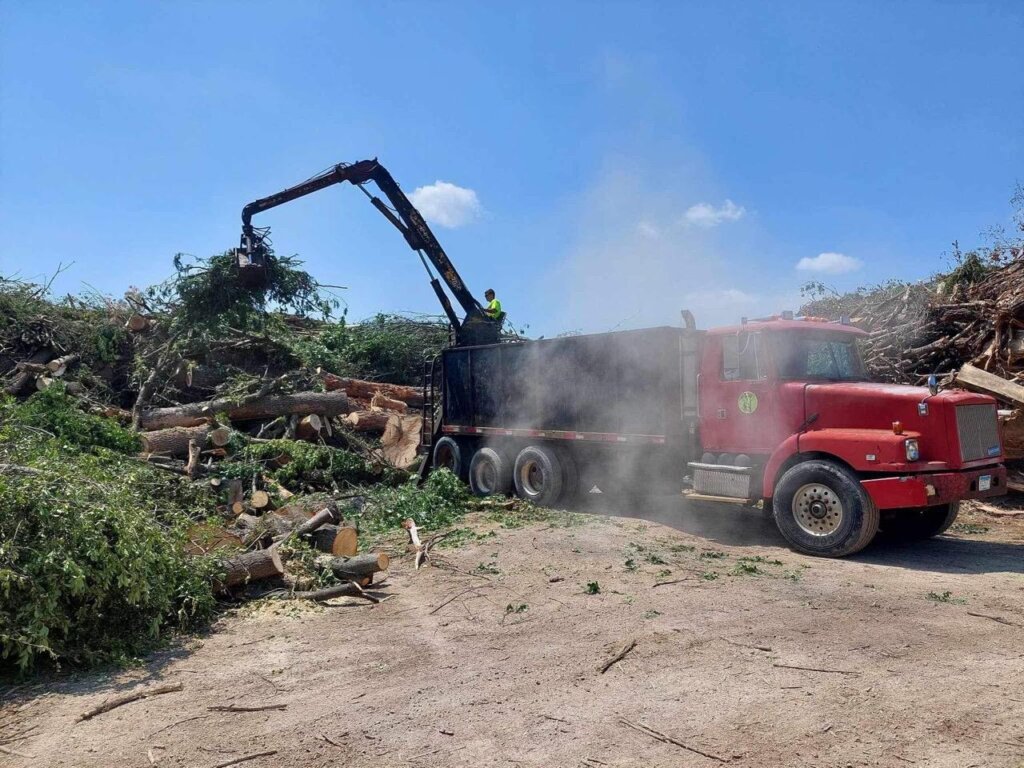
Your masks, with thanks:
<instances>
[{"instance_id":1,"label":"red front bumper of the truck, below the grille","mask_svg":"<svg viewBox=\"0 0 1024 768\"><path fill-rule=\"evenodd\" d=\"M934 507L963 499L1002 496L1007 493L1007 468L997 464L963 472L879 477L861 480L860 484L879 509Z\"/></svg>"}]
</instances>

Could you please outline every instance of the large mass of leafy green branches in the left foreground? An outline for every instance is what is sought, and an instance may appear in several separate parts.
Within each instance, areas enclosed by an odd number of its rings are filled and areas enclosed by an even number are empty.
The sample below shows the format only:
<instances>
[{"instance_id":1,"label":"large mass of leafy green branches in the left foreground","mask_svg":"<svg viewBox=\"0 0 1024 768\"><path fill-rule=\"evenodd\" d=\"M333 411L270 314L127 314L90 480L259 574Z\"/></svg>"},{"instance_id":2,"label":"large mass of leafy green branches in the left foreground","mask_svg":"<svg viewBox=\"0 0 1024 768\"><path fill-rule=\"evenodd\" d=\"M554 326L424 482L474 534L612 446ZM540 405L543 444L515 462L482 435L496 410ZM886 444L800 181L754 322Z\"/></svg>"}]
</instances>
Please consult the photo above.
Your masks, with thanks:
<instances>
[{"instance_id":1,"label":"large mass of leafy green branches in the left foreground","mask_svg":"<svg viewBox=\"0 0 1024 768\"><path fill-rule=\"evenodd\" d=\"M212 612L212 565L183 548L212 509L111 446L58 401L0 402L0 666L117 660Z\"/></svg>"}]
</instances>

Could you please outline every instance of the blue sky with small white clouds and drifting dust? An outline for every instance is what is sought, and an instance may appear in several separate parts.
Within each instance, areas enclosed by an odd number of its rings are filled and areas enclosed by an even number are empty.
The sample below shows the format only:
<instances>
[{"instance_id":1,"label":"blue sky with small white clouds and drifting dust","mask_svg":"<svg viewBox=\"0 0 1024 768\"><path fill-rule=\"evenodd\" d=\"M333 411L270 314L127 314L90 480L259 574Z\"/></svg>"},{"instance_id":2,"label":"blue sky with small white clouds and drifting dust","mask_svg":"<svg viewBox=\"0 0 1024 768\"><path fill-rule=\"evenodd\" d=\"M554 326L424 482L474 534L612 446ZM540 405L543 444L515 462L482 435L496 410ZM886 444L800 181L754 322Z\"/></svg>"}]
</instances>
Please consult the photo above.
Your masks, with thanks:
<instances>
[{"instance_id":1,"label":"blue sky with small white clouds and drifting dust","mask_svg":"<svg viewBox=\"0 0 1024 768\"><path fill-rule=\"evenodd\" d=\"M376 156L532 334L733 322L1007 223L1022 38L1020 2L0 0L0 274L120 295ZM350 186L255 223L353 318L437 311Z\"/></svg>"}]
</instances>

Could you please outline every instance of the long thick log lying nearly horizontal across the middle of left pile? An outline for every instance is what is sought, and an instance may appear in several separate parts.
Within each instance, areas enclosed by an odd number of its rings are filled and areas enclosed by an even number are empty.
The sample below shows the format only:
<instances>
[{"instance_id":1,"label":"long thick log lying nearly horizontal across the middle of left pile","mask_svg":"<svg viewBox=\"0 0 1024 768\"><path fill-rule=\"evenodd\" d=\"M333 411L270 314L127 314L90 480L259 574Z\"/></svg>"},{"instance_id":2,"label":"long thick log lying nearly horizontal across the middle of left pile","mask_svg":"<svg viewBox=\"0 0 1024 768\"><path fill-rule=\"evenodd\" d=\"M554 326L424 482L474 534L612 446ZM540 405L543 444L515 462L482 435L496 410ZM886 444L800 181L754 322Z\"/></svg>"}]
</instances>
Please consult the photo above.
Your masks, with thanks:
<instances>
[{"instance_id":1,"label":"long thick log lying nearly horizontal across the middle of left pile","mask_svg":"<svg viewBox=\"0 0 1024 768\"><path fill-rule=\"evenodd\" d=\"M140 426L146 430L195 427L221 413L227 414L232 421L251 421L292 414L340 416L347 414L349 410L348 397L344 392L296 392L270 394L241 404L237 400L223 399L150 409L142 412Z\"/></svg>"}]
</instances>

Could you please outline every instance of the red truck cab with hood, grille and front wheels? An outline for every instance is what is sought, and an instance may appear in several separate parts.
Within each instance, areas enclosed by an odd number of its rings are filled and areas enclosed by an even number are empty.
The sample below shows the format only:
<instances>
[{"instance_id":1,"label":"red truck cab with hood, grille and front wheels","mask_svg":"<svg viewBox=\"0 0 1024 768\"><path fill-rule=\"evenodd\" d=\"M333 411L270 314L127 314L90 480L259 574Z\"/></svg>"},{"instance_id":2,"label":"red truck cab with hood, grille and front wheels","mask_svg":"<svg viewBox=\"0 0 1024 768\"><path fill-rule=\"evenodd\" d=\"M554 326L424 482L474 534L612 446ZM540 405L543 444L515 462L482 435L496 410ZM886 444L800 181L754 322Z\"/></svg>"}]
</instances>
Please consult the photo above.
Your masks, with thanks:
<instances>
[{"instance_id":1,"label":"red truck cab with hood, grille and front wheels","mask_svg":"<svg viewBox=\"0 0 1024 768\"><path fill-rule=\"evenodd\" d=\"M760 498L797 549L843 555L881 526L923 538L1005 493L995 401L870 382L849 325L772 318L707 333L694 490Z\"/></svg>"}]
</instances>

